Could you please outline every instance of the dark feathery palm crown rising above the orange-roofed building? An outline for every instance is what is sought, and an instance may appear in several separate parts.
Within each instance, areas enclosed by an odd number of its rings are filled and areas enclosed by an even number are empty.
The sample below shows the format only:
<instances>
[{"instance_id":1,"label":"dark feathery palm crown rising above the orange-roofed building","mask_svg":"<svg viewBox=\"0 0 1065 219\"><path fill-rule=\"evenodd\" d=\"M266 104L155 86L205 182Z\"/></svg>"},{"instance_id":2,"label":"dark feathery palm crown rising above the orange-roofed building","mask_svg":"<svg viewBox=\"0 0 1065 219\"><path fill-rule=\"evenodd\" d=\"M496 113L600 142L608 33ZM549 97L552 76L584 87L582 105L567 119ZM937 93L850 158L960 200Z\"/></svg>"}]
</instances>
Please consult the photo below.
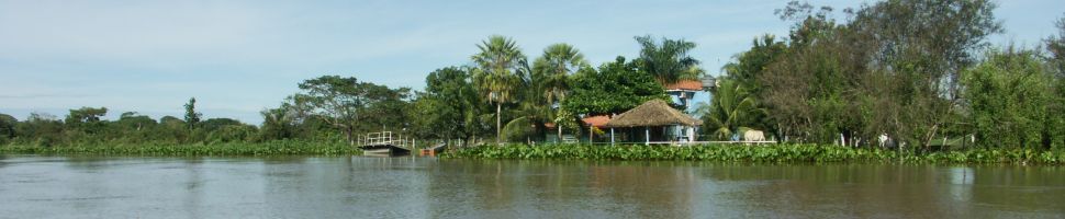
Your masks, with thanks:
<instances>
[{"instance_id":1,"label":"dark feathery palm crown rising above the orange-roofed building","mask_svg":"<svg viewBox=\"0 0 1065 219\"><path fill-rule=\"evenodd\" d=\"M703 77L699 61L687 54L695 48L695 43L669 38L658 43L650 35L637 36L636 42L640 44L640 57L634 61L640 71L653 76L659 83L665 85L681 79Z\"/></svg>"}]
</instances>

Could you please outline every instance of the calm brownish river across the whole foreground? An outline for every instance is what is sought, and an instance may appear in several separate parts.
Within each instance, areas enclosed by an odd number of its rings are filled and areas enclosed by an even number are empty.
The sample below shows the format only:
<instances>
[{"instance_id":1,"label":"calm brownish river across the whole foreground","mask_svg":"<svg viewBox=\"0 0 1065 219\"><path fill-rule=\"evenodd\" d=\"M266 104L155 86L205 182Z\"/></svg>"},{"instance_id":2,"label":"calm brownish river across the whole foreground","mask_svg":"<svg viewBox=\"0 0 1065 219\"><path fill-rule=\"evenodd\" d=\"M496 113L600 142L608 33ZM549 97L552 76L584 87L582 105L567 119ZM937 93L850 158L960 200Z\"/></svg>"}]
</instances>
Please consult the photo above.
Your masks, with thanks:
<instances>
[{"instance_id":1,"label":"calm brownish river across the whole foreground","mask_svg":"<svg viewBox=\"0 0 1065 219\"><path fill-rule=\"evenodd\" d=\"M0 218L1062 218L1065 168L0 155Z\"/></svg>"}]
</instances>

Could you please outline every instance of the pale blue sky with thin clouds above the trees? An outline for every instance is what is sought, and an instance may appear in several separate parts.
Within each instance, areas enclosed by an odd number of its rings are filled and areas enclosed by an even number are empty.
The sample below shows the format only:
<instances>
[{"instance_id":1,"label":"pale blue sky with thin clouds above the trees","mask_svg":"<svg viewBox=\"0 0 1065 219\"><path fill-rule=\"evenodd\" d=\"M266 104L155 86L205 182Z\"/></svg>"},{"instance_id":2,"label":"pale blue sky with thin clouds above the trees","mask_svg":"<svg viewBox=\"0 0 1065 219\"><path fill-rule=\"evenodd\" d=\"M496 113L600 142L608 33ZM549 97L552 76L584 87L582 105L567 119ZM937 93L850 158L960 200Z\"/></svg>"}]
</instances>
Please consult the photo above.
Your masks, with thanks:
<instances>
[{"instance_id":1,"label":"pale blue sky with thin clouds above the trees","mask_svg":"<svg viewBox=\"0 0 1065 219\"><path fill-rule=\"evenodd\" d=\"M810 1L839 12L862 1ZM63 117L107 106L259 124L258 112L323 74L422 89L468 65L475 44L513 37L529 57L574 45L598 65L638 53L632 36L685 38L711 74L761 34L785 35L786 1L23 1L0 0L0 113ZM1033 46L1055 33L1061 0L1010 0L990 41ZM842 19L842 18L841 18ZM707 95L696 96L706 101Z\"/></svg>"}]
</instances>

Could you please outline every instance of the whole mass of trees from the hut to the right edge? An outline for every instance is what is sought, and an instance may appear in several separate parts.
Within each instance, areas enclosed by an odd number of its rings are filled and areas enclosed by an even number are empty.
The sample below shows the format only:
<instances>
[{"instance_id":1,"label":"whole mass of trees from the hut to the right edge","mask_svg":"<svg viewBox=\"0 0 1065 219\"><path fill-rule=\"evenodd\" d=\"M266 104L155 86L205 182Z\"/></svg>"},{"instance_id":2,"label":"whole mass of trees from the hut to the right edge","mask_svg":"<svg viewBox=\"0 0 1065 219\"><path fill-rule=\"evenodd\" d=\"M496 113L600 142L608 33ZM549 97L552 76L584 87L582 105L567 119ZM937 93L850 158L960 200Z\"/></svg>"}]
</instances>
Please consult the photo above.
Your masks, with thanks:
<instances>
[{"instance_id":1,"label":"whole mass of trees from the hut to the right edge","mask_svg":"<svg viewBox=\"0 0 1065 219\"><path fill-rule=\"evenodd\" d=\"M791 142L942 150L1065 148L1065 20L1039 48L987 43L1002 26L990 1L892 0L843 10L792 2L778 39L758 37L718 78L703 131L741 128ZM982 56L983 55L983 56ZM748 104L754 102L753 104ZM753 106L752 106L753 105ZM764 111L764 113L763 113ZM844 139L841 139L841 136Z\"/></svg>"}]
</instances>

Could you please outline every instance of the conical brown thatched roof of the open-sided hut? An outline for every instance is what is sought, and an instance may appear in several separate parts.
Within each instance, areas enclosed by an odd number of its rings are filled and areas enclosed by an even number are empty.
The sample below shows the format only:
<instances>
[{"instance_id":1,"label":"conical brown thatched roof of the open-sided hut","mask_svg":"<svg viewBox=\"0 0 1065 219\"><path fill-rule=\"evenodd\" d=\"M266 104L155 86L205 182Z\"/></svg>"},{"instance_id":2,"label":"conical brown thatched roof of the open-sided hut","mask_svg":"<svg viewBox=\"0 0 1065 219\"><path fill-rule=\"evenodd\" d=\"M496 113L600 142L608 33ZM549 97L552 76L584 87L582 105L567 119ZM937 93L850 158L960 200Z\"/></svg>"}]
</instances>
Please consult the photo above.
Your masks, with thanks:
<instances>
[{"instance_id":1,"label":"conical brown thatched roof of the open-sided hut","mask_svg":"<svg viewBox=\"0 0 1065 219\"><path fill-rule=\"evenodd\" d=\"M670 107L662 100L651 100L628 112L617 115L606 123L606 127L627 128L644 126L685 125L698 126L702 120L692 118L680 111Z\"/></svg>"}]
</instances>

